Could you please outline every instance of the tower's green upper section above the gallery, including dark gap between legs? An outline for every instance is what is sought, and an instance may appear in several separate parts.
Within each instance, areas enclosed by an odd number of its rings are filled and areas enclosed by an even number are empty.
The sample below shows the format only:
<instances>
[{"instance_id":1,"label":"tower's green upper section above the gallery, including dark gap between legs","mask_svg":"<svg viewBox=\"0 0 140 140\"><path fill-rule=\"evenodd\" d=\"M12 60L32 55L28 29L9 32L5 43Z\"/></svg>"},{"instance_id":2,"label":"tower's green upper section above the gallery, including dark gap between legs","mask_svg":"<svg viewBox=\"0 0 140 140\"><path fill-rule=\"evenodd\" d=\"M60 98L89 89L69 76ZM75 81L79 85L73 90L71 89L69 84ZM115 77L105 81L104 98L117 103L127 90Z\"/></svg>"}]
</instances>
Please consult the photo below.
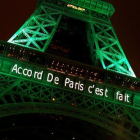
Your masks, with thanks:
<instances>
[{"instance_id":1,"label":"tower's green upper section above the gallery, including dark gap between legs","mask_svg":"<svg viewBox=\"0 0 140 140\"><path fill-rule=\"evenodd\" d=\"M135 77L112 27L113 13L112 4L101 0L38 0L8 42Z\"/></svg>"}]
</instances>

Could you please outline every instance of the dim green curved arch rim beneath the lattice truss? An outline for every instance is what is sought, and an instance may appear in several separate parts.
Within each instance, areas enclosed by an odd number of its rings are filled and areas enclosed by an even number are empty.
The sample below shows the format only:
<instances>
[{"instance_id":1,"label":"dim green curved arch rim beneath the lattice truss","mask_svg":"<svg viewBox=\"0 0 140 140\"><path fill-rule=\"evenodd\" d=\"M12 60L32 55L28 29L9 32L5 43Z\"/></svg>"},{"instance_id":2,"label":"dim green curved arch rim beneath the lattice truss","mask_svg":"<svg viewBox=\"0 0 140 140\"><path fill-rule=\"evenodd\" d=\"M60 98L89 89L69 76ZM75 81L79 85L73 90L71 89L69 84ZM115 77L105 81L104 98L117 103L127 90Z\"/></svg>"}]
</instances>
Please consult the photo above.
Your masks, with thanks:
<instances>
[{"instance_id":1,"label":"dim green curved arch rim beneath the lattice truss","mask_svg":"<svg viewBox=\"0 0 140 140\"><path fill-rule=\"evenodd\" d=\"M114 123L112 120L108 120L97 112L89 113L85 109L79 109L76 107L70 107L68 105L61 105L55 103L16 103L1 106L1 117L26 114L26 113L49 113L57 114L67 117L76 118L79 120L87 121L95 124L101 128L111 131L115 135L120 136L123 139L132 140L138 138L134 133L130 132L120 124ZM99 113L99 112L98 112Z\"/></svg>"}]
</instances>

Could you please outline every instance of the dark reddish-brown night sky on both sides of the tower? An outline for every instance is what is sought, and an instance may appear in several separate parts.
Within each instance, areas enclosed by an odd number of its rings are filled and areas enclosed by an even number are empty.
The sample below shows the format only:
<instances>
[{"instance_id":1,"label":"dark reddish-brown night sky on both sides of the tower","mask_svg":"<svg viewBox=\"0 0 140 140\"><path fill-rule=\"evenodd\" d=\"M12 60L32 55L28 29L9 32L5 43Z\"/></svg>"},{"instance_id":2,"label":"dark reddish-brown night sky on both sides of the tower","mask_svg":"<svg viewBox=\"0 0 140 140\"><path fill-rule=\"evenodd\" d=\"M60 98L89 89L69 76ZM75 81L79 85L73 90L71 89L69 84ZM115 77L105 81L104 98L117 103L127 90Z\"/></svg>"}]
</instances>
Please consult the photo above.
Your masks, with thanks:
<instances>
[{"instance_id":1,"label":"dark reddish-brown night sky on both sides of the tower","mask_svg":"<svg viewBox=\"0 0 140 140\"><path fill-rule=\"evenodd\" d=\"M111 18L121 46L140 78L140 0L108 0L116 11ZM0 40L7 41L30 17L37 0L4 0L0 4Z\"/></svg>"}]
</instances>

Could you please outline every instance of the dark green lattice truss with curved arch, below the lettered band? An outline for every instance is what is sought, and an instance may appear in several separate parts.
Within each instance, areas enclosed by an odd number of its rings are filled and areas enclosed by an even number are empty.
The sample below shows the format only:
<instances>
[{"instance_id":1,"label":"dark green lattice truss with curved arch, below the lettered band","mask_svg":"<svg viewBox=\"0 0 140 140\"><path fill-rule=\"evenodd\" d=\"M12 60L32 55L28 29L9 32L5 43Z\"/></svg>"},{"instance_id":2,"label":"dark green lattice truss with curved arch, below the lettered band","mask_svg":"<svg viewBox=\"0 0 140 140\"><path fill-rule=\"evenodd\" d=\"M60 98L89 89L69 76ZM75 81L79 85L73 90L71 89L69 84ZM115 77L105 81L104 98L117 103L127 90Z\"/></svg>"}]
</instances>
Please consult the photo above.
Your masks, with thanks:
<instances>
[{"instance_id":1,"label":"dark green lattice truss with curved arch, below the lettered band","mask_svg":"<svg viewBox=\"0 0 140 140\"><path fill-rule=\"evenodd\" d=\"M53 113L94 123L127 140L140 136L137 126L139 110L2 74L0 82L0 117L21 113Z\"/></svg>"}]
</instances>

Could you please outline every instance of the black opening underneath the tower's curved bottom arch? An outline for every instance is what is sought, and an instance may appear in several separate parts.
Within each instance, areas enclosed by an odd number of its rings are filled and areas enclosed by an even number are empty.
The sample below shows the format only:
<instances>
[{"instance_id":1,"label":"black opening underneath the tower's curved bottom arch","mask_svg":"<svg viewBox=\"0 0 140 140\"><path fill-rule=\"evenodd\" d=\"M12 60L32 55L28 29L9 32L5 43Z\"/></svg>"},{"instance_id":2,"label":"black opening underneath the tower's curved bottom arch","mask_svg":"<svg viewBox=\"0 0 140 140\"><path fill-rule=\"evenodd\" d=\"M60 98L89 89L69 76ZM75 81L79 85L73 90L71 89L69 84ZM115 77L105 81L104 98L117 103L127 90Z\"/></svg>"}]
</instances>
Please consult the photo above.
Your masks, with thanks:
<instances>
[{"instance_id":1,"label":"black opening underneath the tower's curved bottom arch","mask_svg":"<svg viewBox=\"0 0 140 140\"><path fill-rule=\"evenodd\" d=\"M6 135L20 140L107 140L117 137L113 133L84 120L73 117L30 113L0 118L0 138ZM24 133L22 133L24 132ZM18 135L17 135L18 133ZM115 139L116 140L116 139Z\"/></svg>"}]
</instances>

